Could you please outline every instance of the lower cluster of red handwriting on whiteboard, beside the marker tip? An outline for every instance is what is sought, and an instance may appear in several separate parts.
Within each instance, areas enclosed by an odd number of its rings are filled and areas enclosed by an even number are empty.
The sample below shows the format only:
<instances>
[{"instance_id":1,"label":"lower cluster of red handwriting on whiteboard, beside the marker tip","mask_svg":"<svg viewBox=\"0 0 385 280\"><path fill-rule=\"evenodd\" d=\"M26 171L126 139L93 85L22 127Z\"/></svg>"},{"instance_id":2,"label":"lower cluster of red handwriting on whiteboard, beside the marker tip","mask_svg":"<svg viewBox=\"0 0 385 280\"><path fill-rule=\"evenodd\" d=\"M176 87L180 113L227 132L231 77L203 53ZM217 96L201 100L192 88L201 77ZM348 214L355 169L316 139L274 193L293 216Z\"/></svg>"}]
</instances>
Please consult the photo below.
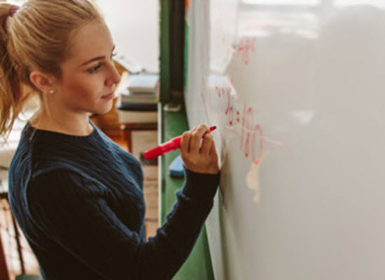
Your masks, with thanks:
<instances>
[{"instance_id":1,"label":"lower cluster of red handwriting on whiteboard, beside the marker tip","mask_svg":"<svg viewBox=\"0 0 385 280\"><path fill-rule=\"evenodd\" d=\"M219 99L219 108L228 118L229 125L241 124L240 150L244 156L251 159L255 165L259 165L262 159L263 133L260 124L253 119L253 107L244 104L242 111L235 108L234 99L231 97L232 88L216 87ZM204 100L204 102L206 102ZM223 106L224 105L224 106Z\"/></svg>"}]
</instances>

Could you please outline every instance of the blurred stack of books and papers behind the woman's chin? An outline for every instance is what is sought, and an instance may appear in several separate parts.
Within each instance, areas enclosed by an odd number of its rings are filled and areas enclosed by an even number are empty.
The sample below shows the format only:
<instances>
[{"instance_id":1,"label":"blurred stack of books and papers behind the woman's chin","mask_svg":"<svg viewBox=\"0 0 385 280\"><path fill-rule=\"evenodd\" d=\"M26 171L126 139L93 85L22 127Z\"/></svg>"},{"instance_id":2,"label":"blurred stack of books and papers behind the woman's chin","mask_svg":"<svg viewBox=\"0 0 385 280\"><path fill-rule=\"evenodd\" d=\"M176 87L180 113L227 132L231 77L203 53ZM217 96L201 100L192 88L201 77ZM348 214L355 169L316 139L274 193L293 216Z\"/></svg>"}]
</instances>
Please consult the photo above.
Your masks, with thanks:
<instances>
[{"instance_id":1,"label":"blurred stack of books and papers behind the woman's chin","mask_svg":"<svg viewBox=\"0 0 385 280\"><path fill-rule=\"evenodd\" d=\"M123 80L125 79L125 80ZM123 75L116 90L120 123L156 123L158 118L159 75Z\"/></svg>"}]
</instances>

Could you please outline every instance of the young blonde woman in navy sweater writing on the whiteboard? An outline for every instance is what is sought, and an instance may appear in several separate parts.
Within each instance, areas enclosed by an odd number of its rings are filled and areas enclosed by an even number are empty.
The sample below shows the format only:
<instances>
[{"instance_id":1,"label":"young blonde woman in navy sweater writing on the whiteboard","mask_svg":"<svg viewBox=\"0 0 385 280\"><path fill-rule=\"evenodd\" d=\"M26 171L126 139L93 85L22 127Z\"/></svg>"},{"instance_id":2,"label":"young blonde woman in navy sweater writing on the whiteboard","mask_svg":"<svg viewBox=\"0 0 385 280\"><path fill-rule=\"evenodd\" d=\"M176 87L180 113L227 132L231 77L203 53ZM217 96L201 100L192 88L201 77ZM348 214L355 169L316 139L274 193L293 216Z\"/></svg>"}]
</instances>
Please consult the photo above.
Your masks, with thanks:
<instances>
[{"instance_id":1,"label":"young blonde woman in navy sweater writing on the whiteboard","mask_svg":"<svg viewBox=\"0 0 385 280\"><path fill-rule=\"evenodd\" d=\"M44 279L171 279L213 204L218 155L208 127L185 132L186 182L155 237L144 235L143 173L88 118L111 109L120 77L108 27L88 0L0 4L0 132L25 102L10 205Z\"/></svg>"}]
</instances>

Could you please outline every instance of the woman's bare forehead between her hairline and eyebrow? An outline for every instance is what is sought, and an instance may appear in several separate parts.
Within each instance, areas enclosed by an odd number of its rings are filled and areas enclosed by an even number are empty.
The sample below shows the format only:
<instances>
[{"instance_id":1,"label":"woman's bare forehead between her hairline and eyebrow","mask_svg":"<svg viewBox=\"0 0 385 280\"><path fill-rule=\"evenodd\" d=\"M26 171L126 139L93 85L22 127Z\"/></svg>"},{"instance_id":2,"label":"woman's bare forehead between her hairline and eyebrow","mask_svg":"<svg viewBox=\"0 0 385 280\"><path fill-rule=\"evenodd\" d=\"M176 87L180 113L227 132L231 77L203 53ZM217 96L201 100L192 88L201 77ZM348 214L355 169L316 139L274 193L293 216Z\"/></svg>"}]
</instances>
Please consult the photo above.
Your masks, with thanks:
<instances>
[{"instance_id":1,"label":"woman's bare forehead between her hairline and eyebrow","mask_svg":"<svg viewBox=\"0 0 385 280\"><path fill-rule=\"evenodd\" d=\"M71 38L69 63L78 65L83 62L109 55L113 46L113 39L109 28L104 22L91 22L80 27Z\"/></svg>"}]
</instances>

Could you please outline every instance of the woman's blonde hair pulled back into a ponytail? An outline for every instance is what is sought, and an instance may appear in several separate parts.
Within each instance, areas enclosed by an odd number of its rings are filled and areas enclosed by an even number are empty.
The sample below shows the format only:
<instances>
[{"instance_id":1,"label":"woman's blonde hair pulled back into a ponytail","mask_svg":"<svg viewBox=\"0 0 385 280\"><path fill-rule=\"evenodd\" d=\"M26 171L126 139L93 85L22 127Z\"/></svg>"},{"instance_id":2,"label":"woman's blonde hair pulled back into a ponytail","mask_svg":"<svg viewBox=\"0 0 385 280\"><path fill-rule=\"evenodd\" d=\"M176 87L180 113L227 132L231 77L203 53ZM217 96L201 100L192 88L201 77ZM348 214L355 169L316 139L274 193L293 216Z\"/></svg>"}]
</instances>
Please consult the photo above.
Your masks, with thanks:
<instances>
[{"instance_id":1,"label":"woman's blonde hair pulled back into a ponytail","mask_svg":"<svg viewBox=\"0 0 385 280\"><path fill-rule=\"evenodd\" d=\"M25 104L44 94L31 83L31 71L61 78L79 27L103 21L91 0L28 0L15 14L0 4L0 138L6 139Z\"/></svg>"}]
</instances>

